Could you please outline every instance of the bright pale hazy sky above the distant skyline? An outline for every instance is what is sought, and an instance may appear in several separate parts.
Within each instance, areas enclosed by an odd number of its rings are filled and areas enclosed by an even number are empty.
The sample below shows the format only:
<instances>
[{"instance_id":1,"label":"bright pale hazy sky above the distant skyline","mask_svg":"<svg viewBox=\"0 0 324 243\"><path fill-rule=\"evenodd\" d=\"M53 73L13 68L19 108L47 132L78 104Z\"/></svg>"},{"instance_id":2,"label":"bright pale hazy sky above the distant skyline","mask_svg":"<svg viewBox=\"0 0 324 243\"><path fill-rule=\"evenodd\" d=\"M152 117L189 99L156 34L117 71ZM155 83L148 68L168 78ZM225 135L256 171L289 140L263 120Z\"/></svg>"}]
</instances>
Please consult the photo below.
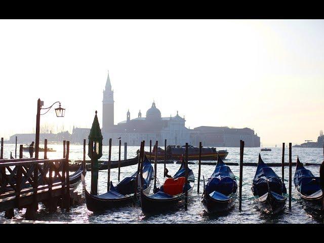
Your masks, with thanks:
<instances>
[{"instance_id":1,"label":"bright pale hazy sky above the distant skyline","mask_svg":"<svg viewBox=\"0 0 324 243\"><path fill-rule=\"evenodd\" d=\"M117 124L153 99L186 127L249 127L264 146L324 130L323 20L0 20L0 136L41 116L70 130L102 123L109 70ZM54 107L56 108L56 107Z\"/></svg>"}]
</instances>

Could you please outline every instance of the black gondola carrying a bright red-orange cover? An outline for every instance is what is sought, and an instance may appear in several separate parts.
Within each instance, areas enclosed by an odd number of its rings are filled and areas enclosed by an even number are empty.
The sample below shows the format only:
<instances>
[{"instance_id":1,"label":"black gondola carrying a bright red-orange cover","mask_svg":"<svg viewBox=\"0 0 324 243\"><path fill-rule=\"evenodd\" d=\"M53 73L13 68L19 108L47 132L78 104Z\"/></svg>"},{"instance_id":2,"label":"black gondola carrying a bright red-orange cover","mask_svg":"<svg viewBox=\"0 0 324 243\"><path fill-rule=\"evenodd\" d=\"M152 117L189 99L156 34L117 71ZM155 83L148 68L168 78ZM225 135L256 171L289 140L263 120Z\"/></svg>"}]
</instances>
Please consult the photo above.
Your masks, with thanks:
<instances>
[{"instance_id":1,"label":"black gondola carrying a bright red-orange cover","mask_svg":"<svg viewBox=\"0 0 324 243\"><path fill-rule=\"evenodd\" d=\"M140 182L140 181L139 181ZM170 182L170 183L169 183ZM140 192L140 204L143 213L156 213L175 209L184 204L185 189L188 196L192 194L194 186L194 175L192 170L188 169L188 184L185 184L185 164L182 164L173 178L168 178L165 183L156 188L154 194L146 195L143 189ZM139 185L141 188L142 185Z\"/></svg>"}]
</instances>

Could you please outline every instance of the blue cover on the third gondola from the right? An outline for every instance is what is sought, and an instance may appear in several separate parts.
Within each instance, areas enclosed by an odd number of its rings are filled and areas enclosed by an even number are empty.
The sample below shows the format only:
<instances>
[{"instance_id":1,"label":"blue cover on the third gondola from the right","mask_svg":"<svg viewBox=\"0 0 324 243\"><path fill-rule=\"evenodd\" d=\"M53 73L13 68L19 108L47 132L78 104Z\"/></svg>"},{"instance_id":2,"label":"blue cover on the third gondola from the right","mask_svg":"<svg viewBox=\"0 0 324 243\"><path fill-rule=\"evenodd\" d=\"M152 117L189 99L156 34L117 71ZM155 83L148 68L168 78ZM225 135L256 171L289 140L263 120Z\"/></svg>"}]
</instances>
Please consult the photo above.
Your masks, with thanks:
<instances>
[{"instance_id":1,"label":"blue cover on the third gondola from the right","mask_svg":"<svg viewBox=\"0 0 324 243\"><path fill-rule=\"evenodd\" d=\"M235 193L237 190L237 183L235 176L231 169L225 165L223 160L218 157L217 165L209 178L205 192L218 200L228 199L228 195Z\"/></svg>"}]
</instances>

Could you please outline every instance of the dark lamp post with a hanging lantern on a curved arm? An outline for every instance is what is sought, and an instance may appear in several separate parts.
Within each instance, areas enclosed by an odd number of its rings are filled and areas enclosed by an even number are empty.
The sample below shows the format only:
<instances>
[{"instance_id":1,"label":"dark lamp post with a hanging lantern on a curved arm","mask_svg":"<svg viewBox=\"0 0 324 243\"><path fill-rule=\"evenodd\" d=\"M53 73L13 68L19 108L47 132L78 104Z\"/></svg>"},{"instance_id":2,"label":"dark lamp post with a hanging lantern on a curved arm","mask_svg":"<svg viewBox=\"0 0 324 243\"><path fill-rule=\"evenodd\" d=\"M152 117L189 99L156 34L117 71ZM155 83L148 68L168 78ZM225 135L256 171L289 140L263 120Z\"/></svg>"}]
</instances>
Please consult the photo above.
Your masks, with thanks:
<instances>
[{"instance_id":1,"label":"dark lamp post with a hanging lantern on a curved arm","mask_svg":"<svg viewBox=\"0 0 324 243\"><path fill-rule=\"evenodd\" d=\"M52 106L56 103L59 103L59 107L55 109L55 113L57 117L64 117L65 109L61 108L61 102L56 101L50 107L42 108L44 105L44 101L41 99L37 100L37 114L36 114L36 137L35 137L35 158L38 159L38 151L39 151L39 129L40 129L40 121L41 115L45 115ZM47 110L45 113L41 114L41 110Z\"/></svg>"}]
</instances>

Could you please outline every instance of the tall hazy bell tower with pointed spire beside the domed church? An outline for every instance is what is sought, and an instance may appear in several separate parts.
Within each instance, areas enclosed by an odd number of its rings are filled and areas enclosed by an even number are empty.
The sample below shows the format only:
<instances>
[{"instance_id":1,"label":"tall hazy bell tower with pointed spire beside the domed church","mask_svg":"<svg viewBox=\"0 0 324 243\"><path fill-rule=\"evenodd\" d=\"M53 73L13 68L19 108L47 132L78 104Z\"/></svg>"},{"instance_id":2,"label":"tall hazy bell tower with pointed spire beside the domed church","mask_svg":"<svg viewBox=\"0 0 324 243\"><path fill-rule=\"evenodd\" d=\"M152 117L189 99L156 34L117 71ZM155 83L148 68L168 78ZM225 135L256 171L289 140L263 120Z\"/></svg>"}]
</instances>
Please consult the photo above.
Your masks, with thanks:
<instances>
[{"instance_id":1,"label":"tall hazy bell tower with pointed spire beside the domed church","mask_svg":"<svg viewBox=\"0 0 324 243\"><path fill-rule=\"evenodd\" d=\"M102 100L102 129L105 132L109 131L109 127L112 127L114 124L113 103L113 90L111 90L111 83L108 71L106 87L103 91Z\"/></svg>"}]
</instances>

